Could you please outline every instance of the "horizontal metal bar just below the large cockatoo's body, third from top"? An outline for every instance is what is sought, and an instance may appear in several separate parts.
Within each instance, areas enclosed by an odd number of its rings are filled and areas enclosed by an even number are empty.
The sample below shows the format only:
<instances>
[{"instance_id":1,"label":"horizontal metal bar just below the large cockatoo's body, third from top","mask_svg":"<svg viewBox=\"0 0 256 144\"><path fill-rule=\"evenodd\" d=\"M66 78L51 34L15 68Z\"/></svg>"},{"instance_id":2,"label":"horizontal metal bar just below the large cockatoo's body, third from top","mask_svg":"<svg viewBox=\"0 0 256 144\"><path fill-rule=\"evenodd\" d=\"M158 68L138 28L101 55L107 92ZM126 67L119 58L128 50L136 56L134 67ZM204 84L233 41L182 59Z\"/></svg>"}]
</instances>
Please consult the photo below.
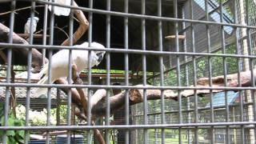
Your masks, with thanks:
<instances>
[{"instance_id":1,"label":"horizontal metal bar just below the large cockatoo's body, third from top","mask_svg":"<svg viewBox=\"0 0 256 144\"><path fill-rule=\"evenodd\" d=\"M142 90L256 90L256 87L197 87L197 86L106 86L106 85L77 85L77 84L36 84L36 83L6 83L1 82L0 86L17 86L17 87L56 87L56 88L98 88L98 89L142 89Z\"/></svg>"}]
</instances>

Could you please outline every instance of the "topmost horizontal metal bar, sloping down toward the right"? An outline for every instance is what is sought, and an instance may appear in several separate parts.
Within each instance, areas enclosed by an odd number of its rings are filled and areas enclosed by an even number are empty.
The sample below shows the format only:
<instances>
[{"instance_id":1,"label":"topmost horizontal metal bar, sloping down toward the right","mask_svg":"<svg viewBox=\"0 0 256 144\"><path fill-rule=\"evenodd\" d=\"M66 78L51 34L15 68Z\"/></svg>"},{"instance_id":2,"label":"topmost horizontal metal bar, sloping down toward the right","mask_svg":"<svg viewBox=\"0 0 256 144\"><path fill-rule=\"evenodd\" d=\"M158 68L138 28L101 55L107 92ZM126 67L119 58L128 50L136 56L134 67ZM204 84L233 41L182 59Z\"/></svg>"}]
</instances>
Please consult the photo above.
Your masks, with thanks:
<instances>
[{"instance_id":1,"label":"topmost horizontal metal bar, sloping down toward the right","mask_svg":"<svg viewBox=\"0 0 256 144\"><path fill-rule=\"evenodd\" d=\"M201 23L201 24L208 24L208 25L219 25L219 26L236 26L236 27L242 27L242 28L250 28L250 29L256 29L256 26L246 26L246 25L238 25L238 24L232 24L232 23L224 23L224 22L210 22L210 21L199 21L199 20L192 20L192 19L182 19L182 18L169 18L169 17L159 17L159 16L153 16L153 15L142 15L142 14L130 14L130 13L122 13L117 11L110 11L110 10L98 10L98 9L92 9L92 8L86 8L86 7L76 7L76 6L67 6L62 5L54 2L46 2L43 0L18 0L18 1L34 1L42 4L48 4L52 6L62 6L74 10L82 10L85 12L93 12L97 14L109 14L114 16L122 16L122 17L128 17L128 18L145 18L155 21L167 21L167 22L191 22L191 23Z\"/></svg>"}]
</instances>

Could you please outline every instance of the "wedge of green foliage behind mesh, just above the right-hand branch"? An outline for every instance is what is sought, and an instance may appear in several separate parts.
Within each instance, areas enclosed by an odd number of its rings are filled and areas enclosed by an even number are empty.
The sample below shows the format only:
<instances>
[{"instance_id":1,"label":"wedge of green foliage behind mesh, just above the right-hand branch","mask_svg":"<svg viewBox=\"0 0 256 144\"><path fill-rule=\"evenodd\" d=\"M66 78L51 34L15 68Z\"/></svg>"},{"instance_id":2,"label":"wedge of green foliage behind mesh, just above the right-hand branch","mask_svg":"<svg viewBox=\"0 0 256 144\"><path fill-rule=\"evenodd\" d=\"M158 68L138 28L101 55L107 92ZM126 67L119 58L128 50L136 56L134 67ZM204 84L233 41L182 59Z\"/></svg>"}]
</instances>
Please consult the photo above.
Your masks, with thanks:
<instances>
[{"instance_id":1,"label":"wedge of green foliage behind mesh, just above the right-hand branch","mask_svg":"<svg viewBox=\"0 0 256 144\"><path fill-rule=\"evenodd\" d=\"M219 50L215 54L223 54L222 50ZM236 54L235 45L230 45L226 47L225 54ZM187 63L186 65L180 66L180 73L177 70L171 70L168 74L164 75L164 85L165 86L178 86L178 75L180 76L181 86L193 85L194 70L196 72L196 79L209 76L209 63L211 63L211 75L212 77L223 75L224 66L226 67L227 74L234 74L238 72L238 58L223 58L221 56L214 57L202 57L195 58L195 67L193 66L193 61ZM224 65L225 64L225 65ZM188 78L188 83L186 82ZM148 82L155 86L160 85L160 78L150 79Z\"/></svg>"}]
</instances>

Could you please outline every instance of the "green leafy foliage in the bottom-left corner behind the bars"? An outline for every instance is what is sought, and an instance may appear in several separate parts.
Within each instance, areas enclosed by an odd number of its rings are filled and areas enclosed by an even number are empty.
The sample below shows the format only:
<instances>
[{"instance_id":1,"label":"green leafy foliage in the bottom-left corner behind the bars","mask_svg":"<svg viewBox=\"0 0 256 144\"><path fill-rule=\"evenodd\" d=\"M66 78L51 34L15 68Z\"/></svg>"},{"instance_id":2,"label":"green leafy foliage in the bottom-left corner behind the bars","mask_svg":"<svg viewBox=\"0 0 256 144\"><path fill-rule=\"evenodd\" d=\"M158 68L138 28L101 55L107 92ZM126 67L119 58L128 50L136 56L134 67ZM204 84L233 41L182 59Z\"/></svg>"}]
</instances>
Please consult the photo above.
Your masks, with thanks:
<instances>
[{"instance_id":1,"label":"green leafy foliage in the bottom-left corner behind the bars","mask_svg":"<svg viewBox=\"0 0 256 144\"><path fill-rule=\"evenodd\" d=\"M4 125L4 105L0 106L0 123L1 126ZM23 118L15 118L14 114L10 110L10 114L8 115L7 125L8 126L25 126L25 119ZM3 135L4 131L0 130L0 135ZM6 130L7 143L15 144L15 143L24 143L25 131L24 130Z\"/></svg>"}]
</instances>

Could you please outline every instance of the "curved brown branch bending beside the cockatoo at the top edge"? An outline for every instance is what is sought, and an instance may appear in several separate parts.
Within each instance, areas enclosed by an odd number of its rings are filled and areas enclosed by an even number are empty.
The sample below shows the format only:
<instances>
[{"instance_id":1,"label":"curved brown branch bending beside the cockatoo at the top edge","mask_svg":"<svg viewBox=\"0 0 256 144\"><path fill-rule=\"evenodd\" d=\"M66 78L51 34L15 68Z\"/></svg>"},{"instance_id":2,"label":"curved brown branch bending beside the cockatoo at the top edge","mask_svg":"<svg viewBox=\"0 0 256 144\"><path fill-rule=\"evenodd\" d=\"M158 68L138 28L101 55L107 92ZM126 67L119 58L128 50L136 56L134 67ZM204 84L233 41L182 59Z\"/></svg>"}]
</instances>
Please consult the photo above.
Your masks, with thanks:
<instances>
[{"instance_id":1,"label":"curved brown branch bending beside the cockatoo at the top edge","mask_svg":"<svg viewBox=\"0 0 256 144\"><path fill-rule=\"evenodd\" d=\"M74 2L74 6L78 7L78 4ZM79 20L79 27L78 30L75 31L73 34L73 43L77 42L79 38L85 34L86 30L88 29L89 22L86 19L85 14L83 14L82 10L74 10L74 14ZM62 42L62 46L69 46L70 45L70 38L67 38L64 42Z\"/></svg>"}]
</instances>

